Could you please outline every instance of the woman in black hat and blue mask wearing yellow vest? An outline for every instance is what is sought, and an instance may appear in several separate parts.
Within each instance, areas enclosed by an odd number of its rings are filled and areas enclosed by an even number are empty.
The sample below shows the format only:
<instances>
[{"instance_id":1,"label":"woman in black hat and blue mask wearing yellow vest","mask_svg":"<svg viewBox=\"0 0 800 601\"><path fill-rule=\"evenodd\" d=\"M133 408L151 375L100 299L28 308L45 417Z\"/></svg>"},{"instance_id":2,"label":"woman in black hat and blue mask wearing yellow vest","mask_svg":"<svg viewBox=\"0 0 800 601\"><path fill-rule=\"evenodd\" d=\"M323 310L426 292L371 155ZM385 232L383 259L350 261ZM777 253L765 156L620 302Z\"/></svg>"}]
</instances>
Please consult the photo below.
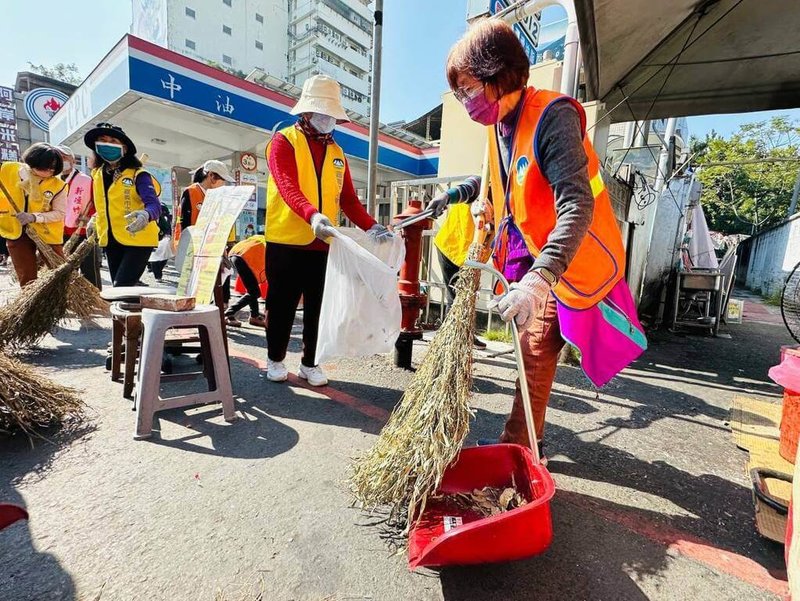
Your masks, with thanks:
<instances>
[{"instance_id":1,"label":"woman in black hat and blue mask wearing yellow vest","mask_svg":"<svg viewBox=\"0 0 800 601\"><path fill-rule=\"evenodd\" d=\"M87 231L97 231L114 286L135 286L158 246L160 188L142 168L136 145L122 128L100 123L83 137L94 151L92 197L97 214Z\"/></svg>"}]
</instances>

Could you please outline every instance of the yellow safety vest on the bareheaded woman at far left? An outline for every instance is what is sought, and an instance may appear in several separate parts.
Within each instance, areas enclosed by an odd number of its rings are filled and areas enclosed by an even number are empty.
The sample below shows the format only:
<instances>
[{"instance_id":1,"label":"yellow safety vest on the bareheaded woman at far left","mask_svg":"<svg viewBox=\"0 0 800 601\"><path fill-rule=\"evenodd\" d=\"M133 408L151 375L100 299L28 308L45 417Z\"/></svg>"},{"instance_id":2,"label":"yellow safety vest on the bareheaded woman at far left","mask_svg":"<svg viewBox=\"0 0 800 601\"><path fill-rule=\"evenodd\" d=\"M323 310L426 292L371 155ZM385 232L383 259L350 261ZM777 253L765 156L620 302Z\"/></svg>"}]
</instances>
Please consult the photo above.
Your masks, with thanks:
<instances>
[{"instance_id":1,"label":"yellow safety vest on the bareheaded woman at far left","mask_svg":"<svg viewBox=\"0 0 800 601\"><path fill-rule=\"evenodd\" d=\"M0 179L3 185L11 194L14 204L25 213L47 213L51 207L56 194L61 192L66 184L57 177L48 177L39 184L41 198L38 201L30 202L25 193L20 188L19 170L23 163L3 163L0 165ZM17 211L9 202L6 195L0 192L0 236L8 240L16 240L22 235L22 224L15 217ZM39 237L47 244L64 243L64 220L52 223L31 223L30 227L39 234Z\"/></svg>"}]
</instances>

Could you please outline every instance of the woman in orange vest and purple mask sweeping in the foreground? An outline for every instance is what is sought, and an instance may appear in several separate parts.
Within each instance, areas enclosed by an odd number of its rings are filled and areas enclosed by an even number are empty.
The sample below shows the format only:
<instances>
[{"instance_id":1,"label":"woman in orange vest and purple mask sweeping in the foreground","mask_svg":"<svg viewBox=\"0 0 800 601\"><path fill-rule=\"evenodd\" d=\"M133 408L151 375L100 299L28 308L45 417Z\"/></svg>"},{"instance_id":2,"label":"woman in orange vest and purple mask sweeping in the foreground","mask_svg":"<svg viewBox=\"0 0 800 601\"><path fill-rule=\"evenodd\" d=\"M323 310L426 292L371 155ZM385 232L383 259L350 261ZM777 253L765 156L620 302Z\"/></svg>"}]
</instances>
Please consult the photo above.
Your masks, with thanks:
<instances>
[{"instance_id":1,"label":"woman in orange vest and purple mask sweeping in the foreground","mask_svg":"<svg viewBox=\"0 0 800 601\"><path fill-rule=\"evenodd\" d=\"M472 120L487 128L492 205L477 200L473 213L493 217L493 260L514 282L494 303L522 333L525 377L541 441L558 354L564 337L574 342L568 331L575 331L576 338L589 330L603 332L604 314L597 309L612 297L623 305L611 303L612 312L620 309L637 333L641 326L635 312L628 314L632 303L622 281L625 251L597 155L586 137L583 107L557 92L528 87L529 68L514 31L499 20L476 24L447 60L450 88ZM595 348L579 347L584 355ZM636 346L633 355L641 350ZM626 353L608 350L614 370L631 360ZM596 377L593 381L608 375L587 365L584 370ZM519 382L500 441L529 441Z\"/></svg>"}]
</instances>

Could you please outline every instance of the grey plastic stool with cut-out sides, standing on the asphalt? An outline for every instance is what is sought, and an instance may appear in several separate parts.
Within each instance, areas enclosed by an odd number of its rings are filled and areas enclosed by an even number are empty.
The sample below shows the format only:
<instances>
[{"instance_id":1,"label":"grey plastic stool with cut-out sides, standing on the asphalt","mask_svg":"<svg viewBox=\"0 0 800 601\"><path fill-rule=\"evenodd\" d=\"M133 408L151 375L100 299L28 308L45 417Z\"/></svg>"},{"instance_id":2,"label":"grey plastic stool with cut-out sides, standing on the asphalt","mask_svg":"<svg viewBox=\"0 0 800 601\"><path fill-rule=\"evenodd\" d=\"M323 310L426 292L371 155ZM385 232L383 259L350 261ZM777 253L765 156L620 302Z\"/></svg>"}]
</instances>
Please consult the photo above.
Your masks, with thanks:
<instances>
[{"instance_id":1,"label":"grey plastic stool with cut-out sides, standing on the asphalt","mask_svg":"<svg viewBox=\"0 0 800 601\"><path fill-rule=\"evenodd\" d=\"M203 351L203 371L209 391L161 398L161 358L164 340L170 328L196 327L200 331ZM222 339L219 309L213 305L199 305L192 311L142 310L142 352L136 381L136 433L134 438L149 438L153 430L156 411L176 409L205 403L222 403L225 421L236 419L233 390Z\"/></svg>"}]
</instances>

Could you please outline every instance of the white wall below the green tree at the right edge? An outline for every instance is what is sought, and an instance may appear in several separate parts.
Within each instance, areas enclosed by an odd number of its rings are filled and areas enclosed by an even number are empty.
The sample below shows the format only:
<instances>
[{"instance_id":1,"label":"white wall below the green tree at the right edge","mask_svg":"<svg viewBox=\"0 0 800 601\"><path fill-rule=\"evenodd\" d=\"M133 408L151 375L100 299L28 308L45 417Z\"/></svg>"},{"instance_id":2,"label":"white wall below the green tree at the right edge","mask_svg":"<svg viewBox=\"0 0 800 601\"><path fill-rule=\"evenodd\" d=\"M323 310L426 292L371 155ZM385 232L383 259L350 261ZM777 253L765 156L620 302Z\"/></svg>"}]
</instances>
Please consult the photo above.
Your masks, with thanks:
<instances>
[{"instance_id":1,"label":"white wall below the green tree at the right edge","mask_svg":"<svg viewBox=\"0 0 800 601\"><path fill-rule=\"evenodd\" d=\"M740 256L749 250L745 285L771 296L779 293L794 266L800 262L800 214L745 240Z\"/></svg>"}]
</instances>

